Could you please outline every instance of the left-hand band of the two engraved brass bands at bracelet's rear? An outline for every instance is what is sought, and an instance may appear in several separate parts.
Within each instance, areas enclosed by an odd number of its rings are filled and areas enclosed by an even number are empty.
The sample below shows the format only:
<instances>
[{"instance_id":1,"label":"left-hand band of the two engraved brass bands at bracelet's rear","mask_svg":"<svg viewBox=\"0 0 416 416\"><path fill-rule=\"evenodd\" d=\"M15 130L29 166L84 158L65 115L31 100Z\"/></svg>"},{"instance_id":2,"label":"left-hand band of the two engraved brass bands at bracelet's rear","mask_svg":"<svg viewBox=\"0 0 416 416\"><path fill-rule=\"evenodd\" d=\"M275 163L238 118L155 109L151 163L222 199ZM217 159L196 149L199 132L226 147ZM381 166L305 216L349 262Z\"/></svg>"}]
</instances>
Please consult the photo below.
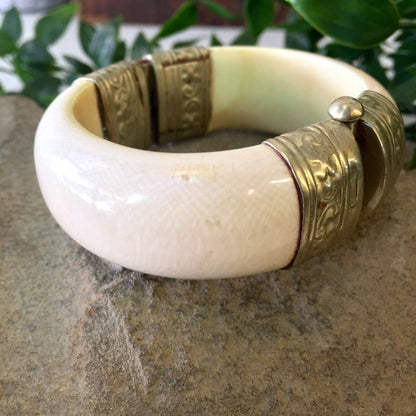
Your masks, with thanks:
<instances>
[{"instance_id":1,"label":"left-hand band of the two engraved brass bands at bracelet's rear","mask_svg":"<svg viewBox=\"0 0 416 416\"><path fill-rule=\"evenodd\" d=\"M147 62L119 62L82 79L97 86L104 136L129 147L152 143L151 67Z\"/></svg>"}]
</instances>

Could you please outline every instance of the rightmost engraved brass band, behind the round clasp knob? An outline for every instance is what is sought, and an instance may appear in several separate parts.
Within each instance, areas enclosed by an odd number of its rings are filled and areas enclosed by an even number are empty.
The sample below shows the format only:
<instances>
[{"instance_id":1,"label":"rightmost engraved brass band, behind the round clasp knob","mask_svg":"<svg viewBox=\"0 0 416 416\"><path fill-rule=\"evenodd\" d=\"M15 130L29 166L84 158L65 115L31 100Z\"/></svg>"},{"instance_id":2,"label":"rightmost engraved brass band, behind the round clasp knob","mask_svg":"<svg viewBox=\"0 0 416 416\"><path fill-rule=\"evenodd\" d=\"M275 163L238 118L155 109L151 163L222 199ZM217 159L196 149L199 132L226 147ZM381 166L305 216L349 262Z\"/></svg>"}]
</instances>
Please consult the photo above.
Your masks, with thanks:
<instances>
[{"instance_id":1,"label":"rightmost engraved brass band, behind the round clasp knob","mask_svg":"<svg viewBox=\"0 0 416 416\"><path fill-rule=\"evenodd\" d=\"M405 155L403 119L397 106L374 91L358 98L364 115L354 134L364 167L364 207L371 212L390 191L402 169Z\"/></svg>"}]
</instances>

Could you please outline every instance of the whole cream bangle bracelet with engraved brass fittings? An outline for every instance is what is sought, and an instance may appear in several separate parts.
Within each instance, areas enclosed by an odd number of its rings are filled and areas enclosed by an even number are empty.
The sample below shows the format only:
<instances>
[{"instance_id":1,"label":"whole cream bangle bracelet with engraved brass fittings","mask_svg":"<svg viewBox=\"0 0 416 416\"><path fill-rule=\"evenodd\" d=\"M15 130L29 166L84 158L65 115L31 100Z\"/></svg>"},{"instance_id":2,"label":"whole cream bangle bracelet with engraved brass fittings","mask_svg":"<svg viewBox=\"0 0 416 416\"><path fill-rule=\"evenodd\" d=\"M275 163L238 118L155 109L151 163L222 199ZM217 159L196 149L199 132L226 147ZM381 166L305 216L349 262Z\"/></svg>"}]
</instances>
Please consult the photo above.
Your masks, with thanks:
<instances>
[{"instance_id":1,"label":"whole cream bangle bracelet with engraved brass fittings","mask_svg":"<svg viewBox=\"0 0 416 416\"><path fill-rule=\"evenodd\" d=\"M143 150L227 128L289 133L219 152ZM178 49L96 71L50 105L35 140L44 199L74 240L124 267L191 279L322 252L379 204L403 156L402 118L377 81L258 47Z\"/></svg>"}]
</instances>

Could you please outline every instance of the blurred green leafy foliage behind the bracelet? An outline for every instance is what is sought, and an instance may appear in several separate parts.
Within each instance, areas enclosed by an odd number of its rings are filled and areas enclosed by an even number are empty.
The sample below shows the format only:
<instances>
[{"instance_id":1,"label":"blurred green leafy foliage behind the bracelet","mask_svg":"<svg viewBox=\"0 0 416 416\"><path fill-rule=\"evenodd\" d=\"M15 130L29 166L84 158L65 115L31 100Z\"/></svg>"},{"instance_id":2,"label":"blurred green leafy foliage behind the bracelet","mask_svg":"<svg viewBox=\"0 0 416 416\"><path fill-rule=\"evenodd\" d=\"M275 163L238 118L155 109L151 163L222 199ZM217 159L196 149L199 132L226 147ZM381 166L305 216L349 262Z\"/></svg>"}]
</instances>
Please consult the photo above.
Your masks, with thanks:
<instances>
[{"instance_id":1,"label":"blurred green leafy foliage behind the bracelet","mask_svg":"<svg viewBox=\"0 0 416 416\"><path fill-rule=\"evenodd\" d=\"M290 7L286 22L274 24L281 7ZM132 45L120 39L121 17L104 24L80 21L78 40L88 56L80 61L65 55L58 65L50 52L75 18L80 5L65 4L39 19L33 39L22 42L17 9L9 10L0 27L0 71L23 83L20 94L46 107L77 77L123 59L139 59L160 49L160 40L195 25L203 7L224 20L244 20L233 45L255 45L266 29L283 29L285 46L341 59L363 69L383 84L403 115L409 116L406 137L416 141L416 0L245 0L235 14L213 0L184 1L152 38L139 32ZM174 45L198 43L189 39ZM212 46L221 42L212 33ZM5 93L0 85L0 93ZM416 168L416 152L410 163Z\"/></svg>"}]
</instances>

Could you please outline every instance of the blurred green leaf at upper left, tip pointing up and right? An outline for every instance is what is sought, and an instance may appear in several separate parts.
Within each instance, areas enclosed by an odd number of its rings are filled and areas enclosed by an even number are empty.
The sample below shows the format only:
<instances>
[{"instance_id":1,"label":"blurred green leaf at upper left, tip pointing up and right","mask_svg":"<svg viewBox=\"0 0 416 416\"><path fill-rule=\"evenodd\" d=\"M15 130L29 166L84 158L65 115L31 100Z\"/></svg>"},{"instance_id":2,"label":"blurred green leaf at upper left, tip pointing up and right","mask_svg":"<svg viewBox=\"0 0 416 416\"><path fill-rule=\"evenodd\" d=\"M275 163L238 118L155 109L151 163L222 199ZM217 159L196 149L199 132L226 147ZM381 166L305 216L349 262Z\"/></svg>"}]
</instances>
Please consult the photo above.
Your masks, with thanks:
<instances>
[{"instance_id":1,"label":"blurred green leaf at upper left, tip pointing up and right","mask_svg":"<svg viewBox=\"0 0 416 416\"><path fill-rule=\"evenodd\" d=\"M36 40L45 46L55 43L67 29L78 8L78 3L68 3L47 12L36 23Z\"/></svg>"}]
</instances>

